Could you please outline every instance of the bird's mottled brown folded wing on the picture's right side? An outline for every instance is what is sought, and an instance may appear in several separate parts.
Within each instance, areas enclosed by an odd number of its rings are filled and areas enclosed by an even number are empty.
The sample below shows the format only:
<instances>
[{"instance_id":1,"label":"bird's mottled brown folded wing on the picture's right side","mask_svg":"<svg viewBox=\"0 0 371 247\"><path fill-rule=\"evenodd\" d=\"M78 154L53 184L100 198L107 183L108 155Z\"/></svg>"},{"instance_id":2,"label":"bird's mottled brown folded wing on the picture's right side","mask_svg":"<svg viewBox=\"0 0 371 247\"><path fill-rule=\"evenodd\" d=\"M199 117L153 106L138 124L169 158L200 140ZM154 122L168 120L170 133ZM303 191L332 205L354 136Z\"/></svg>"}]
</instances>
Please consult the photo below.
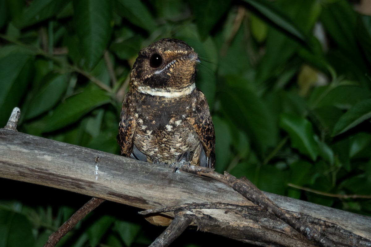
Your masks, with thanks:
<instances>
[{"instance_id":1,"label":"bird's mottled brown folded wing on the picture's right side","mask_svg":"<svg viewBox=\"0 0 371 247\"><path fill-rule=\"evenodd\" d=\"M215 130L205 95L197 91L197 104L188 121L197 133L206 155L206 167L215 166ZM201 164L201 166L204 166Z\"/></svg>"}]
</instances>

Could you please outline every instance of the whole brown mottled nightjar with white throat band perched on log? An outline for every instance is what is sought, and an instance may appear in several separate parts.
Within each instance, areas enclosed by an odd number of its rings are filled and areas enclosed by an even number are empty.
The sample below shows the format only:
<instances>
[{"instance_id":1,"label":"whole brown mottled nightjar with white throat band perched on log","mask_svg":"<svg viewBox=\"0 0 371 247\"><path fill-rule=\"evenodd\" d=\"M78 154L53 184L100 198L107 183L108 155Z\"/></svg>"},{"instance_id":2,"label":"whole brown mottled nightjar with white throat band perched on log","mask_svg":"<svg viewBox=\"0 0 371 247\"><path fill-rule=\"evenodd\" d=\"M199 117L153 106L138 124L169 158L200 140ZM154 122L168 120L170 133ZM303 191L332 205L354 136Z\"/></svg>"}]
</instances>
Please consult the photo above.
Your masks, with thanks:
<instances>
[{"instance_id":1,"label":"whole brown mottled nightjar with white throat band perched on log","mask_svg":"<svg viewBox=\"0 0 371 247\"><path fill-rule=\"evenodd\" d=\"M193 48L177 39L139 51L122 103L117 136L122 154L176 169L188 162L215 166L214 125L195 85L199 62Z\"/></svg>"}]
</instances>

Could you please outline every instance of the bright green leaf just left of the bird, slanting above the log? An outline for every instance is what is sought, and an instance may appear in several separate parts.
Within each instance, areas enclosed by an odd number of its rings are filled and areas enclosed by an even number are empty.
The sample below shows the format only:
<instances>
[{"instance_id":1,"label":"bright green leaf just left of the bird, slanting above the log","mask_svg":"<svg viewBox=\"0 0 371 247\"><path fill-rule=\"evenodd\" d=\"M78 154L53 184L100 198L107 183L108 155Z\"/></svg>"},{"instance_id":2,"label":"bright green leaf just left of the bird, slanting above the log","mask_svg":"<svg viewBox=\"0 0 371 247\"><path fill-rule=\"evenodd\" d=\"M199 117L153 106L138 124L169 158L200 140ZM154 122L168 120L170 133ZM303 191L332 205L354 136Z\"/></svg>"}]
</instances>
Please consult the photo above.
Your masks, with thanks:
<instances>
[{"instance_id":1,"label":"bright green leaf just left of the bird, slanting above the log","mask_svg":"<svg viewBox=\"0 0 371 247\"><path fill-rule=\"evenodd\" d=\"M89 111L109 102L110 97L104 90L85 90L73 95L56 107L43 131L50 132L75 123Z\"/></svg>"}]
</instances>

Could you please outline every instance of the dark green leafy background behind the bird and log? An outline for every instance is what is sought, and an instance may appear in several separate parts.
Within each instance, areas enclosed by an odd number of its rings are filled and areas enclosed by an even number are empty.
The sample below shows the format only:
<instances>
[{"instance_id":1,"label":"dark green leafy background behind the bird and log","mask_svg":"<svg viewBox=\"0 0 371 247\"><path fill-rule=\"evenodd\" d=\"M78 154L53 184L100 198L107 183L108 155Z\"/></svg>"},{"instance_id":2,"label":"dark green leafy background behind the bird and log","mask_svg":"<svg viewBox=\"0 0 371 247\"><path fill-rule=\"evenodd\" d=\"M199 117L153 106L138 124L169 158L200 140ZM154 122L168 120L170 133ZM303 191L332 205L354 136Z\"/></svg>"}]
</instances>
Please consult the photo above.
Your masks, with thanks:
<instances>
[{"instance_id":1,"label":"dark green leafy background behind the bird and log","mask_svg":"<svg viewBox=\"0 0 371 247\"><path fill-rule=\"evenodd\" d=\"M202 59L197 85L213 115L217 171L246 176L264 191L371 215L370 1L0 6L0 126L18 106L23 133L119 154L119 111L138 51L161 38L182 39ZM1 247L43 246L89 200L0 183ZM58 246L147 246L164 228L137 211L105 202ZM221 241L242 245L191 229L173 246Z\"/></svg>"}]
</instances>

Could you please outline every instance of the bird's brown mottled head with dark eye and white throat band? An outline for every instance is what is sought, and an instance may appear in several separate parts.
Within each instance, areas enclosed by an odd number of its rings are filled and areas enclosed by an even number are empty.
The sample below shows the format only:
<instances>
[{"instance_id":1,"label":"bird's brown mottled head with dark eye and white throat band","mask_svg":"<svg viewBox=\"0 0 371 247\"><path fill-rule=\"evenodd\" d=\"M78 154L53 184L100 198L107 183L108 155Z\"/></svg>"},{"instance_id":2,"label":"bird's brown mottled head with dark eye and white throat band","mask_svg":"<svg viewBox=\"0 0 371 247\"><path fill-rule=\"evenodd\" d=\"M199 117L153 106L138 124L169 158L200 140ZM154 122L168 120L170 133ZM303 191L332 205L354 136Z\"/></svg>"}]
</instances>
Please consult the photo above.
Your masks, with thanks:
<instances>
[{"instance_id":1,"label":"bird's brown mottled head with dark eye and white throat band","mask_svg":"<svg viewBox=\"0 0 371 247\"><path fill-rule=\"evenodd\" d=\"M139 51L130 74L131 90L163 97L180 97L195 88L193 48L182 40L161 39Z\"/></svg>"}]
</instances>

